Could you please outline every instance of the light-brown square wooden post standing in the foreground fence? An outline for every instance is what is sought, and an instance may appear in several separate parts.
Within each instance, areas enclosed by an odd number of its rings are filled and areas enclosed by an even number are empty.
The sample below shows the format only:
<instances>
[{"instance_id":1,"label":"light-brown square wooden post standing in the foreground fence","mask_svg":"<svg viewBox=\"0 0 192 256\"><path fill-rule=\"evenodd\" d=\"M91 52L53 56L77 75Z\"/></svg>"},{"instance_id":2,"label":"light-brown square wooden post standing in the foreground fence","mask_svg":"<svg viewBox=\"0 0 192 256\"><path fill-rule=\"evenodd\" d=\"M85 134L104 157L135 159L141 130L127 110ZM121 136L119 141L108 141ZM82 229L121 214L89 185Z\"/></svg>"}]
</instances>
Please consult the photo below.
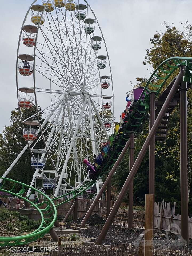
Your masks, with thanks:
<instances>
[{"instance_id":1,"label":"light-brown square wooden post standing in the foreground fence","mask_svg":"<svg viewBox=\"0 0 192 256\"><path fill-rule=\"evenodd\" d=\"M145 195L145 256L153 255L153 194Z\"/></svg>"}]
</instances>

